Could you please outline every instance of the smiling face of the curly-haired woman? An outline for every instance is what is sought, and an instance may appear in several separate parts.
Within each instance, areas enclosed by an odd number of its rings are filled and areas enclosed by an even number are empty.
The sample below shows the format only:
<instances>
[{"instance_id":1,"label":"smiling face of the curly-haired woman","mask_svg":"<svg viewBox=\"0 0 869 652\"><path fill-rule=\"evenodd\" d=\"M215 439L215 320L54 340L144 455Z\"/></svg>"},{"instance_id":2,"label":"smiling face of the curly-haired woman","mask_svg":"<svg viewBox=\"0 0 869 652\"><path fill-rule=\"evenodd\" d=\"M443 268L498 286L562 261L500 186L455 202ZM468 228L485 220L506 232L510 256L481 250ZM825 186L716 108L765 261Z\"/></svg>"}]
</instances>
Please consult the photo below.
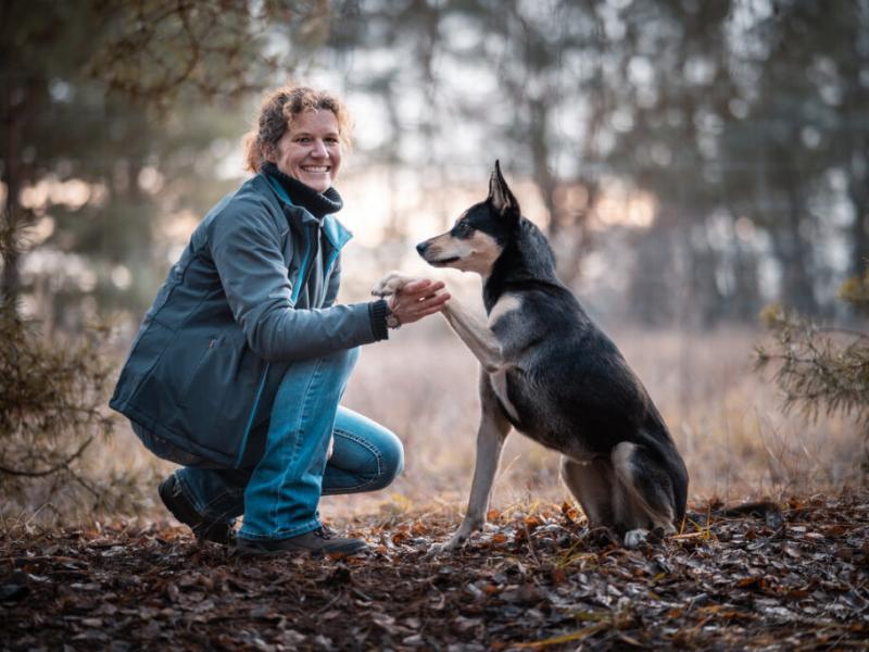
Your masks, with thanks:
<instances>
[{"instance_id":1,"label":"smiling face of the curly-haired woman","mask_svg":"<svg viewBox=\"0 0 869 652\"><path fill-rule=\"evenodd\" d=\"M338 120L328 109L294 115L269 158L278 170L310 186L327 190L341 167Z\"/></svg>"}]
</instances>

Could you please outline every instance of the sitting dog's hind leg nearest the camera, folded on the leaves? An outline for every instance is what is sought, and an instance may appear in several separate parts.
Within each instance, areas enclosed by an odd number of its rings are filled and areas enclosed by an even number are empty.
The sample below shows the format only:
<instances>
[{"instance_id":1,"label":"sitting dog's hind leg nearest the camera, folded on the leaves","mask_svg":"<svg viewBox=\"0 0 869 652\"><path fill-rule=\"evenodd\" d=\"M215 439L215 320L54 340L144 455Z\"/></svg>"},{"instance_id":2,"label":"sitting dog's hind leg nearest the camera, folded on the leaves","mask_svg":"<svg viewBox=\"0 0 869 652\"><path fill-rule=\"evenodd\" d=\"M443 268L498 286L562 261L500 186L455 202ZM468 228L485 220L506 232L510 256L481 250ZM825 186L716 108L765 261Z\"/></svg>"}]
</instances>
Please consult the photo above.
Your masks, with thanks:
<instances>
[{"instance_id":1,"label":"sitting dog's hind leg nearest the camera, folded on the leaves","mask_svg":"<svg viewBox=\"0 0 869 652\"><path fill-rule=\"evenodd\" d=\"M675 493L667 468L642 446L622 441L610 455L619 492L616 522L627 530L625 546L634 548L647 530L676 531Z\"/></svg>"}]
</instances>

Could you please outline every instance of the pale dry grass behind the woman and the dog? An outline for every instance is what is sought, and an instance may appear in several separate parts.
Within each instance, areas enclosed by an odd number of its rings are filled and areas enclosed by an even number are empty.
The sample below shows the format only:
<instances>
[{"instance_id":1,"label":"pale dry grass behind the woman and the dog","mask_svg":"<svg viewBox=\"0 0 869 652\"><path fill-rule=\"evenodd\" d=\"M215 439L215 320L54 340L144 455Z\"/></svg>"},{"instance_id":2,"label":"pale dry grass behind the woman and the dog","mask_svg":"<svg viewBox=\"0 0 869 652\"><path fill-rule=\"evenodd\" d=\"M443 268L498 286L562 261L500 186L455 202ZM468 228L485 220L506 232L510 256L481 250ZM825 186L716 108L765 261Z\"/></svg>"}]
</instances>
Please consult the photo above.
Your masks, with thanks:
<instances>
[{"instance_id":1,"label":"pale dry grass behind the woman and the dog","mask_svg":"<svg viewBox=\"0 0 869 652\"><path fill-rule=\"evenodd\" d=\"M690 498L727 501L804 494L859 481L864 443L853 424L806 424L784 415L774 387L752 372L758 331L610 333L662 411L691 474ZM464 510L474 469L479 418L477 364L440 318L404 328L365 347L344 404L383 424L405 447L405 473L388 489L324 499L327 518L401 513L419 505ZM113 465L142 477L168 473L119 428ZM557 454L513 432L502 457L493 506L527 509L568 497ZM164 515L156 498L154 515Z\"/></svg>"}]
</instances>

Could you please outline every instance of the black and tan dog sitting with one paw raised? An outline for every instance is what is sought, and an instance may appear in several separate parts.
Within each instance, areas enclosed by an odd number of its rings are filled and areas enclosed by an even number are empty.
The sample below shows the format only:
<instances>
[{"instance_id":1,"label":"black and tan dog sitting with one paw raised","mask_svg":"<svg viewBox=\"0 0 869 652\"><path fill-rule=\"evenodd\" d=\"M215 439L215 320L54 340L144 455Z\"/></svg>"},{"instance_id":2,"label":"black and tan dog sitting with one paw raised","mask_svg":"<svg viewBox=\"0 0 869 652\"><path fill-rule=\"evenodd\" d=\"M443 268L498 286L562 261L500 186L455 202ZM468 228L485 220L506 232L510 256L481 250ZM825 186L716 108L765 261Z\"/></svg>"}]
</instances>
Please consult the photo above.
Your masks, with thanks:
<instances>
[{"instance_id":1,"label":"black and tan dog sitting with one paw raised","mask_svg":"<svg viewBox=\"0 0 869 652\"><path fill-rule=\"evenodd\" d=\"M450 299L442 314L480 363L480 426L468 510L432 553L452 550L486 522L511 427L562 454L561 477L589 527L635 548L650 530L683 521L688 471L664 419L613 341L555 274L543 233L521 216L495 162L489 197L451 230L416 247L434 267L482 277L487 316ZM412 277L392 272L387 297Z\"/></svg>"}]
</instances>

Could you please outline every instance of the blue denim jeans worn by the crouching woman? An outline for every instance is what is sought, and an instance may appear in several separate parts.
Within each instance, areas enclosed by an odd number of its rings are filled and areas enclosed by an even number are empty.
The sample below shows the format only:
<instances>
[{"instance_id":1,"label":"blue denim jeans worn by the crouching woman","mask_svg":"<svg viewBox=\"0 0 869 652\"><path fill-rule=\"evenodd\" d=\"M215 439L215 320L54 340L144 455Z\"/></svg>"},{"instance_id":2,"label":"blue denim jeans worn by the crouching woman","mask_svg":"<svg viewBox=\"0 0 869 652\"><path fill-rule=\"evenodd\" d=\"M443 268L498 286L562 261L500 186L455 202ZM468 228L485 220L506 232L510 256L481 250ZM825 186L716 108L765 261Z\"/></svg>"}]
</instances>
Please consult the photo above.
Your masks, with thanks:
<instances>
[{"instance_id":1,"label":"blue denim jeans worn by the crouching woman","mask_svg":"<svg viewBox=\"0 0 869 652\"><path fill-rule=\"evenodd\" d=\"M338 404L358 350L294 362L281 379L267 431L249 446L263 454L249 468L214 468L137 424L134 430L156 455L184 464L181 490L203 517L231 522L244 515L239 536L286 539L320 526L320 496L387 487L404 466L395 435ZM332 456L326 460L330 437Z\"/></svg>"}]
</instances>

